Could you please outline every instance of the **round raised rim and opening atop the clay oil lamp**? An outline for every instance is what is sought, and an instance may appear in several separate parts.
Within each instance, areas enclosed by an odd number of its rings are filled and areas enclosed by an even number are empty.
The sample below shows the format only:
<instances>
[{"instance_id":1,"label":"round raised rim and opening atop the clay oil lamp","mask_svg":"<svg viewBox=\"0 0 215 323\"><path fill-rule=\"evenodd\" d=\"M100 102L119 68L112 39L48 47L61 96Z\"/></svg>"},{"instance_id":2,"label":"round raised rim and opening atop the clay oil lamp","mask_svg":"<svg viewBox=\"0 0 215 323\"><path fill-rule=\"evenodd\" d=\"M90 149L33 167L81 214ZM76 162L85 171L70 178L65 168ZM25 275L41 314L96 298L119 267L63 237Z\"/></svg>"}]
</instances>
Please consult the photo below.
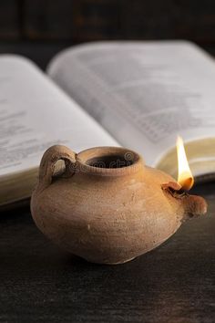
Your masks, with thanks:
<instances>
[{"instance_id":1,"label":"round raised rim and opening atop the clay oil lamp","mask_svg":"<svg viewBox=\"0 0 215 323\"><path fill-rule=\"evenodd\" d=\"M107 160L108 167L105 164ZM144 161L138 152L122 147L96 147L77 154L77 169L94 175L126 175L138 172L143 165Z\"/></svg>"}]
</instances>

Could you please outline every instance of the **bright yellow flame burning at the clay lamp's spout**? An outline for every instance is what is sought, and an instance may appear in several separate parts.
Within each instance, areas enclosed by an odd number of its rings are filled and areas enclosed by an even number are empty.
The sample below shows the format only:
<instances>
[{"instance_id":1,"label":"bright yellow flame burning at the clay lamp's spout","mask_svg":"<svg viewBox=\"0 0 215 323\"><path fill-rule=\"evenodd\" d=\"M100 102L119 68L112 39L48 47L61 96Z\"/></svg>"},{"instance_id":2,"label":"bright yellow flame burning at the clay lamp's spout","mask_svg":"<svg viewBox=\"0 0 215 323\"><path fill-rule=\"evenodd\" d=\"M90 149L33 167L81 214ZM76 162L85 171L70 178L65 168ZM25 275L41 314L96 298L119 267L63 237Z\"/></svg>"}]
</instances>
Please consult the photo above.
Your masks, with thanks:
<instances>
[{"instance_id":1,"label":"bright yellow flame burning at the clay lamp's spout","mask_svg":"<svg viewBox=\"0 0 215 323\"><path fill-rule=\"evenodd\" d=\"M178 156L178 182L182 190L189 191L194 184L194 178L189 169L189 162L184 149L184 143L181 137L178 136L177 142Z\"/></svg>"}]
</instances>

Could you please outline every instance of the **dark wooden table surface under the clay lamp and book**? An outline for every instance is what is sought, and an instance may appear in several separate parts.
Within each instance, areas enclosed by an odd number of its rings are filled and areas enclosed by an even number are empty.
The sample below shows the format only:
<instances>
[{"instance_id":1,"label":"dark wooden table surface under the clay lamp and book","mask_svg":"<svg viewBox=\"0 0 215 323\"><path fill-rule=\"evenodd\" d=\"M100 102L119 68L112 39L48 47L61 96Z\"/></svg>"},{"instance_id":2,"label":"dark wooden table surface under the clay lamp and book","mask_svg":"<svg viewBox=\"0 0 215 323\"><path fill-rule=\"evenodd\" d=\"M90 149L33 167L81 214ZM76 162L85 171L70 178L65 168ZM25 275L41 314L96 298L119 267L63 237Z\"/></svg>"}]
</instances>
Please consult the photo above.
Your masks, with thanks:
<instances>
[{"instance_id":1,"label":"dark wooden table surface under the clay lamp and book","mask_svg":"<svg viewBox=\"0 0 215 323\"><path fill-rule=\"evenodd\" d=\"M62 46L63 47L63 46ZM7 45L45 68L58 47ZM41 64L40 64L41 63ZM215 322L215 183L194 190L209 212L120 266L58 249L27 208L0 214L0 322Z\"/></svg>"}]
</instances>

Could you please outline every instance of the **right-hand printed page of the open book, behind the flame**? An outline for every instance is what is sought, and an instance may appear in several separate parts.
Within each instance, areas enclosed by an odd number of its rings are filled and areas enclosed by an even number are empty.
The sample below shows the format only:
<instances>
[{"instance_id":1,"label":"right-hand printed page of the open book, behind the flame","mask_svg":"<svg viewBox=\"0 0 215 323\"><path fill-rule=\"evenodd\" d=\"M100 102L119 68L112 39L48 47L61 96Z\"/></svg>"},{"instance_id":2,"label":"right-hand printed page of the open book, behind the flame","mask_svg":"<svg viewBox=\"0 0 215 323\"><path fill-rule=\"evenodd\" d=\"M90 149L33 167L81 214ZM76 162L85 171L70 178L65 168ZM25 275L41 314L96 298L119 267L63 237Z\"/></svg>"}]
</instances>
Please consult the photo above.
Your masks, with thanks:
<instances>
[{"instance_id":1,"label":"right-hand printed page of the open book, behind the flame","mask_svg":"<svg viewBox=\"0 0 215 323\"><path fill-rule=\"evenodd\" d=\"M175 145L215 134L215 64L185 41L104 42L69 48L48 74L149 165Z\"/></svg>"}]
</instances>

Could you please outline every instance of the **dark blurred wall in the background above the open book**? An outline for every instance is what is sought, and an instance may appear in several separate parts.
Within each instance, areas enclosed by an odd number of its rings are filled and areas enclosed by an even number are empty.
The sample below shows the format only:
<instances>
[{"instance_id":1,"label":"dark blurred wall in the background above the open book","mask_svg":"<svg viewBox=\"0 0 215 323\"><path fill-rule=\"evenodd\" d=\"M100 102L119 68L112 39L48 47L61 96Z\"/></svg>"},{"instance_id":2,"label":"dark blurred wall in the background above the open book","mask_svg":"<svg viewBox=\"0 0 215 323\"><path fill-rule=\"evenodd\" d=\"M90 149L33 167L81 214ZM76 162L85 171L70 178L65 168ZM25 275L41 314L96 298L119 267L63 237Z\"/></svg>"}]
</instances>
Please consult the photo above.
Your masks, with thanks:
<instances>
[{"instance_id":1,"label":"dark blurred wall in the background above the open book","mask_svg":"<svg viewBox=\"0 0 215 323\"><path fill-rule=\"evenodd\" d=\"M0 1L0 45L26 56L30 45L48 60L86 41L181 38L215 55L215 0Z\"/></svg>"}]
</instances>

